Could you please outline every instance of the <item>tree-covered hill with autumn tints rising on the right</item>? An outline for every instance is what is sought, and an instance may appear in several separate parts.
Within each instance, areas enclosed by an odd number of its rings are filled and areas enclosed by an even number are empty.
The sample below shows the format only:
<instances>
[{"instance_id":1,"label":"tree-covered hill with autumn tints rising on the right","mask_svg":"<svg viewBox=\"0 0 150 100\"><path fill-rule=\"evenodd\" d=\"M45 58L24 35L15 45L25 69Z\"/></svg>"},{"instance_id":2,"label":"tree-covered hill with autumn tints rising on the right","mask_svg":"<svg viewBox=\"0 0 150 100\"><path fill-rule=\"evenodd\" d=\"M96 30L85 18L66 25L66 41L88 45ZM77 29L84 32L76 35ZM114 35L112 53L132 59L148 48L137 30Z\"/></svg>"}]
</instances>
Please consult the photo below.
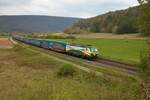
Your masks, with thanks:
<instances>
[{"instance_id":1,"label":"tree-covered hill with autumn tints rising on the right","mask_svg":"<svg viewBox=\"0 0 150 100\"><path fill-rule=\"evenodd\" d=\"M86 30L104 33L136 33L138 8L108 12L89 19L82 19L69 30Z\"/></svg>"}]
</instances>

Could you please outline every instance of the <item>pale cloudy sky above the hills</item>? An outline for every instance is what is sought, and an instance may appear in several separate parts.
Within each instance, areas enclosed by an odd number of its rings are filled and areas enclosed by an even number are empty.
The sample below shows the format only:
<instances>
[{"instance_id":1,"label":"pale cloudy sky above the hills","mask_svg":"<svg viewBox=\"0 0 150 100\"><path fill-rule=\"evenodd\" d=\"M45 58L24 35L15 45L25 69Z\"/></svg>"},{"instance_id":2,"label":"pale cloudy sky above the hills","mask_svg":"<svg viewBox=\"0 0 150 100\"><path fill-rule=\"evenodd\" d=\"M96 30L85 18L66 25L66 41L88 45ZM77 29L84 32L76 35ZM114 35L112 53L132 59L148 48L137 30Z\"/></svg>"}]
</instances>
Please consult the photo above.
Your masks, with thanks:
<instances>
[{"instance_id":1,"label":"pale cloudy sky above the hills","mask_svg":"<svg viewBox=\"0 0 150 100\"><path fill-rule=\"evenodd\" d=\"M0 15L89 18L136 5L137 0L0 0Z\"/></svg>"}]
</instances>

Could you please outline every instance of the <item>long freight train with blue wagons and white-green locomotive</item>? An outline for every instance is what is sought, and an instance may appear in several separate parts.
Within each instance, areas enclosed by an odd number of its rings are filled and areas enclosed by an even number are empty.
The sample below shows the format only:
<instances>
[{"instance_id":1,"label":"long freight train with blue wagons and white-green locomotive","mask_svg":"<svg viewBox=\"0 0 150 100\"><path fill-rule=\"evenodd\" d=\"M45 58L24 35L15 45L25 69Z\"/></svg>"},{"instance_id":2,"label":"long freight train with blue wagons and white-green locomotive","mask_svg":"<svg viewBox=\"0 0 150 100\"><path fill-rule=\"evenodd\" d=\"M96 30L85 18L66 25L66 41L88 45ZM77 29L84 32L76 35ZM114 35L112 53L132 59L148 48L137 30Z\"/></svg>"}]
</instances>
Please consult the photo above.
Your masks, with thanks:
<instances>
[{"instance_id":1,"label":"long freight train with blue wagons and white-green locomotive","mask_svg":"<svg viewBox=\"0 0 150 100\"><path fill-rule=\"evenodd\" d=\"M28 38L23 36L13 36L13 39L33 46L42 47L81 58L96 59L98 57L98 50L93 46L83 46L59 41Z\"/></svg>"}]
</instances>

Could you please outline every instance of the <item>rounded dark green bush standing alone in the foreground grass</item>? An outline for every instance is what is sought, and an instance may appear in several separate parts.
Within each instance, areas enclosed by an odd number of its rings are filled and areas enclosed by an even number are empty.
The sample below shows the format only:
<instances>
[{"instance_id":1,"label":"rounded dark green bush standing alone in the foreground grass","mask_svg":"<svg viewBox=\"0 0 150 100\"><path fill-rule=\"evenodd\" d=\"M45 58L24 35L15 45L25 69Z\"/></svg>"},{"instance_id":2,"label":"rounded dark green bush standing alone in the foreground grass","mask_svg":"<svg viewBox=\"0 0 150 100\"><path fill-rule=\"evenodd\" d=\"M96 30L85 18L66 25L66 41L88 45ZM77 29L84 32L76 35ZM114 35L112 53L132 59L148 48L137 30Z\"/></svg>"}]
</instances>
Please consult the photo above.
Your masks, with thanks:
<instances>
[{"instance_id":1,"label":"rounded dark green bush standing alone in the foreground grass","mask_svg":"<svg viewBox=\"0 0 150 100\"><path fill-rule=\"evenodd\" d=\"M75 73L76 70L71 65L64 65L58 70L57 75L60 77L73 77Z\"/></svg>"}]
</instances>

